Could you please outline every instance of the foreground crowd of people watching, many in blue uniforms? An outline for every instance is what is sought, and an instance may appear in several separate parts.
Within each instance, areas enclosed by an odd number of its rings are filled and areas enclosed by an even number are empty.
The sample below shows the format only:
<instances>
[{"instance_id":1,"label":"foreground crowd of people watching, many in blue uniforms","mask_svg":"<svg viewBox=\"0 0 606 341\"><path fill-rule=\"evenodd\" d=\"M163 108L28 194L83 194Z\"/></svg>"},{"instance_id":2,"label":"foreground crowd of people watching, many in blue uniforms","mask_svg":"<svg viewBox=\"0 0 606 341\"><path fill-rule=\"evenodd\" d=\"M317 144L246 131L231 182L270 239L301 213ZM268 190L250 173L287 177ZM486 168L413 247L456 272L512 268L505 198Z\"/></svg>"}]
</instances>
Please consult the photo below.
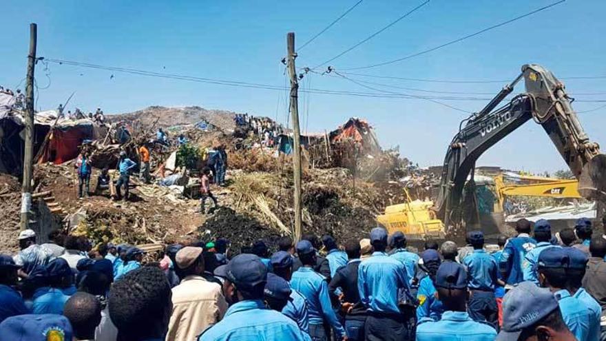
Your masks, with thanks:
<instances>
[{"instance_id":1,"label":"foreground crowd of people watching, many in blue uniforms","mask_svg":"<svg viewBox=\"0 0 606 341\"><path fill-rule=\"evenodd\" d=\"M606 237L584 218L516 231L492 253L481 231L417 253L376 227L342 243L284 236L273 254L258 240L233 256L218 238L152 259L25 230L0 256L0 340L605 340Z\"/></svg>"}]
</instances>

